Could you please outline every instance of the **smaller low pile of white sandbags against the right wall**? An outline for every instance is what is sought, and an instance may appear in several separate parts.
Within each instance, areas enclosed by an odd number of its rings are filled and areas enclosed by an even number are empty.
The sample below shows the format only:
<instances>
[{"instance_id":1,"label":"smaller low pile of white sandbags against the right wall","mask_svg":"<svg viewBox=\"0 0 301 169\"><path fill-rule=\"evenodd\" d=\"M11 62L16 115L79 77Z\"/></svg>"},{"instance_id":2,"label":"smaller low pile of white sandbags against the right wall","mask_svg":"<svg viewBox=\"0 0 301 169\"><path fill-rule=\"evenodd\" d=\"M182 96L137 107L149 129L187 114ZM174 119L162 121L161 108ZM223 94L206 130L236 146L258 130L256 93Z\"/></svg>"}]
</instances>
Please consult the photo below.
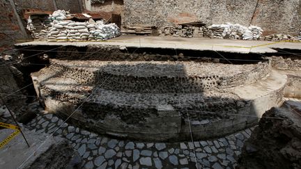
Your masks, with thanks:
<instances>
[{"instance_id":1,"label":"smaller low pile of white sandbags against the right wall","mask_svg":"<svg viewBox=\"0 0 301 169\"><path fill-rule=\"evenodd\" d=\"M263 30L258 26L249 28L240 24L213 24L208 26L210 38L258 40Z\"/></svg>"}]
</instances>

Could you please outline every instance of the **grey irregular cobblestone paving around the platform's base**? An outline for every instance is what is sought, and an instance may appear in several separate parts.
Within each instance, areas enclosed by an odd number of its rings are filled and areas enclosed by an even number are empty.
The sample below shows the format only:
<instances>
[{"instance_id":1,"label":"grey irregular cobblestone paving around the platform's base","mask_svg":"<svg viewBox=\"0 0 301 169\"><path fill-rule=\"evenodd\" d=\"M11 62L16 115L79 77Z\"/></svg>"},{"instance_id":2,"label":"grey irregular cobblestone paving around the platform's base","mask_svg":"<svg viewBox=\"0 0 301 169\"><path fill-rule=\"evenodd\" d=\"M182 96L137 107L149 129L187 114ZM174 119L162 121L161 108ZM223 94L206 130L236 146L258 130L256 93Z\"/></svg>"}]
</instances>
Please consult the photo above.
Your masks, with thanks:
<instances>
[{"instance_id":1,"label":"grey irregular cobblestone paving around the platform's base","mask_svg":"<svg viewBox=\"0 0 301 169\"><path fill-rule=\"evenodd\" d=\"M185 143L142 143L93 134L43 114L38 103L29 105L37 117L26 127L38 133L67 138L84 159L83 168L235 168L236 159L252 129L214 140ZM196 156L194 156L194 149ZM63 153L63 152L62 152Z\"/></svg>"}]
</instances>

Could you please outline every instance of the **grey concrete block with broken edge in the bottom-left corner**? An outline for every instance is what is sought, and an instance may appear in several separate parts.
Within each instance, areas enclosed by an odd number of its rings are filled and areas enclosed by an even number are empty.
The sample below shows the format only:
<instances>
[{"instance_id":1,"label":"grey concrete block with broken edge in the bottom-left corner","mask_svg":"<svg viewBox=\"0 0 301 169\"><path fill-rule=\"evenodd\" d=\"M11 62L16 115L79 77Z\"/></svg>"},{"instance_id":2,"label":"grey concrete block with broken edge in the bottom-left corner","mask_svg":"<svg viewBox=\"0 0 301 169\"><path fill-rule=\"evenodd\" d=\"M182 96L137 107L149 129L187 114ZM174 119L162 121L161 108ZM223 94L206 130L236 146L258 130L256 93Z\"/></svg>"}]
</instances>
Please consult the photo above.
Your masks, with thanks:
<instances>
[{"instance_id":1,"label":"grey concrete block with broken edge in the bottom-left corner","mask_svg":"<svg viewBox=\"0 0 301 169\"><path fill-rule=\"evenodd\" d=\"M54 154L55 149L65 150L65 141L63 138L52 137L48 138L49 134L36 133L27 129L22 129L26 138L29 141L31 147L28 147L21 134L17 135L13 140L0 149L0 168L31 168L31 166L43 166L43 163L49 161L39 161L41 158L47 158ZM11 129L1 129L0 140L5 139L7 136L13 133ZM69 151L73 151L72 148L68 148ZM65 153L68 154L68 150ZM64 157L63 157L64 156ZM58 156L62 160L65 159L64 154ZM69 154L67 155L69 158ZM56 163L50 164L55 166ZM42 163L42 164L40 164ZM68 165L65 164L66 166ZM43 168L43 167L42 167Z\"/></svg>"}]
</instances>

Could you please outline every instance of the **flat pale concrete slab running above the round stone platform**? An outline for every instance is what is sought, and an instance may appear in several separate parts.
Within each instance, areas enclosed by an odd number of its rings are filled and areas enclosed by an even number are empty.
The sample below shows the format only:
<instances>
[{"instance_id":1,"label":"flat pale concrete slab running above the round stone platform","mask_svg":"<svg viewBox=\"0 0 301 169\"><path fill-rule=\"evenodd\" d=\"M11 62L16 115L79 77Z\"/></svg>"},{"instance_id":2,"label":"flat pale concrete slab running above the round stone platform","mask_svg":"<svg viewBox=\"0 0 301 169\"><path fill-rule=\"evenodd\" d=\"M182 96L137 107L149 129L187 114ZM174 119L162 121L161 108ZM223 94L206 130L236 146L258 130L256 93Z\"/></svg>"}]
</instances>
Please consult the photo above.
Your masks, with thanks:
<instances>
[{"instance_id":1,"label":"flat pale concrete slab running above the round stone platform","mask_svg":"<svg viewBox=\"0 0 301 169\"><path fill-rule=\"evenodd\" d=\"M279 49L300 49L298 42L270 42L262 40L224 40L210 38L171 38L158 36L121 36L102 42L43 42L33 41L15 44L15 46L27 45L63 45L85 47L87 45L118 45L125 47L149 47L162 49L194 49L199 51L226 51L233 53L273 53Z\"/></svg>"}]
</instances>

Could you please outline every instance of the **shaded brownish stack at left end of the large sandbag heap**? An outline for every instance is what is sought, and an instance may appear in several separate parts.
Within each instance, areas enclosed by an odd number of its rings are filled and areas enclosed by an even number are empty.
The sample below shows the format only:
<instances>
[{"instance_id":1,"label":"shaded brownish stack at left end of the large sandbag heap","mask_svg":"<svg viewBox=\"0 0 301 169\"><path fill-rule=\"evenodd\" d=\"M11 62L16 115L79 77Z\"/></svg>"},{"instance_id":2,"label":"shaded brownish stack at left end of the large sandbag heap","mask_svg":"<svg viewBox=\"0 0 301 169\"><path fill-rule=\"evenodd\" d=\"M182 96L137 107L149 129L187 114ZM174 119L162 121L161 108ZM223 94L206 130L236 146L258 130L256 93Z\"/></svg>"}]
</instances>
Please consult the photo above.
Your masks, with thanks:
<instances>
[{"instance_id":1,"label":"shaded brownish stack at left end of the large sandbag heap","mask_svg":"<svg viewBox=\"0 0 301 169\"><path fill-rule=\"evenodd\" d=\"M36 40L47 40L51 28L52 19L47 15L31 15L27 22L27 29Z\"/></svg>"}]
</instances>

